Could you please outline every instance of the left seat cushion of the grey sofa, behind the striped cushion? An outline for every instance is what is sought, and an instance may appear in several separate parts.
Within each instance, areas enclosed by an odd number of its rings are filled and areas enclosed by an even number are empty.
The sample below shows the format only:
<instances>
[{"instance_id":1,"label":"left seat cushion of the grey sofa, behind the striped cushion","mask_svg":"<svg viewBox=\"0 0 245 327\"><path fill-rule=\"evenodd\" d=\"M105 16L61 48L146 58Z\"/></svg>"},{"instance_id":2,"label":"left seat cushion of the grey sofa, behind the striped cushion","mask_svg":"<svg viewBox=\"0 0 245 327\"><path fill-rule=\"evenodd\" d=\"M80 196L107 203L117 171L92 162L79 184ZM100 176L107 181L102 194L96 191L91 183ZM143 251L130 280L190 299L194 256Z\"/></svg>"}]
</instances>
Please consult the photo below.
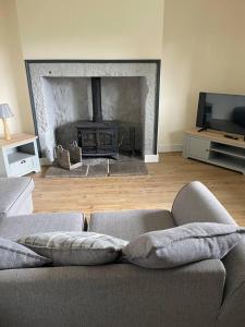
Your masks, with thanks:
<instances>
[{"instance_id":1,"label":"left seat cushion of the grey sofa, behind the striped cushion","mask_svg":"<svg viewBox=\"0 0 245 327\"><path fill-rule=\"evenodd\" d=\"M75 213L11 216L0 218L0 237L16 241L33 233L82 231L83 226L83 215Z\"/></svg>"}]
</instances>

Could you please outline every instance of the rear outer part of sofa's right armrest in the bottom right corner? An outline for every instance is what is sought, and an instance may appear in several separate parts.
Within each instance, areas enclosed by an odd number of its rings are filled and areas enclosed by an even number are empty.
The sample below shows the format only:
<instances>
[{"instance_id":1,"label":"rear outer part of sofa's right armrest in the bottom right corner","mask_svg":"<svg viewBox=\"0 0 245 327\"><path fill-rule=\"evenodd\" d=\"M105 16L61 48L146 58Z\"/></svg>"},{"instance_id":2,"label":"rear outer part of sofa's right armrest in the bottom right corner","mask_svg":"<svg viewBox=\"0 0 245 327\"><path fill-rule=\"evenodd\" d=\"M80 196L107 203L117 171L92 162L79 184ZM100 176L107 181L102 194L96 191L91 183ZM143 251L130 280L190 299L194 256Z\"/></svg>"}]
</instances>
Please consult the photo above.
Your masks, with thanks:
<instances>
[{"instance_id":1,"label":"rear outer part of sofa's right armrest in the bottom right corner","mask_svg":"<svg viewBox=\"0 0 245 327\"><path fill-rule=\"evenodd\" d=\"M245 241L223 259L226 280L218 327L245 326Z\"/></svg>"}]
</instances>

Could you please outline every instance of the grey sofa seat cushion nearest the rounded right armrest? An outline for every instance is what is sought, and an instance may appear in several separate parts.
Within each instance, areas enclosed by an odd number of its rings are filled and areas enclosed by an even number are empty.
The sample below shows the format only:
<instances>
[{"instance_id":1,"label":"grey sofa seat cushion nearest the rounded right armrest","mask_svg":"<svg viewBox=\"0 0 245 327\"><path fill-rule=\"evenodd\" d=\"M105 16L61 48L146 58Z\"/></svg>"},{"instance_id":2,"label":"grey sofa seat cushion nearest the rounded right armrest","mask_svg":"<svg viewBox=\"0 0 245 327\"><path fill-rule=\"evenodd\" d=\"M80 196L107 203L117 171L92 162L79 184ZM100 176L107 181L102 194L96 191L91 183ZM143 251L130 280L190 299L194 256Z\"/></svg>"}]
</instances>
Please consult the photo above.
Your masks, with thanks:
<instances>
[{"instance_id":1,"label":"grey sofa seat cushion nearest the rounded right armrest","mask_svg":"<svg viewBox=\"0 0 245 327\"><path fill-rule=\"evenodd\" d=\"M131 241L146 232L173 227L170 211L145 209L93 214L88 230Z\"/></svg>"}]
</instances>

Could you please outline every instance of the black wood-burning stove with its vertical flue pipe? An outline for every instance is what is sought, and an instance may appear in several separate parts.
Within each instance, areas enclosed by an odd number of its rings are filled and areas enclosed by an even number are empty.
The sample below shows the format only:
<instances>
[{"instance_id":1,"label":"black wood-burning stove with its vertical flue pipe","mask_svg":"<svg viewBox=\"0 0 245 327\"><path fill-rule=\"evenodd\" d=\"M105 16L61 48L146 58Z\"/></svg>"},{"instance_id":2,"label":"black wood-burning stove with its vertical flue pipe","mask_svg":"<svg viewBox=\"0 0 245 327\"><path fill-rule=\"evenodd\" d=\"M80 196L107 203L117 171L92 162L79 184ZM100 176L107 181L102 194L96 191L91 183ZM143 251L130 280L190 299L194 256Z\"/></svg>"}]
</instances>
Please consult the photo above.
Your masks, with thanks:
<instances>
[{"instance_id":1,"label":"black wood-burning stove with its vertical flue pipe","mask_svg":"<svg viewBox=\"0 0 245 327\"><path fill-rule=\"evenodd\" d=\"M93 121L78 121L76 125L78 146L83 156L119 156L117 121L105 121L101 108L101 78L91 77Z\"/></svg>"}]
</instances>

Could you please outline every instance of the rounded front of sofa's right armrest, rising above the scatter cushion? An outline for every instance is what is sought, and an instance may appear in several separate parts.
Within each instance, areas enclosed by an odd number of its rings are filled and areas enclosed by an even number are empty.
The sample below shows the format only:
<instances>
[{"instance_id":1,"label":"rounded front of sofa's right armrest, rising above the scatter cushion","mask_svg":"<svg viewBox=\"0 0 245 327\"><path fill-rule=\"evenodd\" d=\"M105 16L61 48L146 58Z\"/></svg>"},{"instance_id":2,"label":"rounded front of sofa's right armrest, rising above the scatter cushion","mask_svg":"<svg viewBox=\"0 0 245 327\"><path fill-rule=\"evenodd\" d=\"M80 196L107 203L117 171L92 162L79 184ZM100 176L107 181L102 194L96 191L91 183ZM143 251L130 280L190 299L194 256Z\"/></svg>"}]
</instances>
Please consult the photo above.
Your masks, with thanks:
<instances>
[{"instance_id":1,"label":"rounded front of sofa's right armrest, rising above the scatter cushion","mask_svg":"<svg viewBox=\"0 0 245 327\"><path fill-rule=\"evenodd\" d=\"M216 196L200 182L192 182L177 193L172 215L177 226L196 221L235 223Z\"/></svg>"}]
</instances>

